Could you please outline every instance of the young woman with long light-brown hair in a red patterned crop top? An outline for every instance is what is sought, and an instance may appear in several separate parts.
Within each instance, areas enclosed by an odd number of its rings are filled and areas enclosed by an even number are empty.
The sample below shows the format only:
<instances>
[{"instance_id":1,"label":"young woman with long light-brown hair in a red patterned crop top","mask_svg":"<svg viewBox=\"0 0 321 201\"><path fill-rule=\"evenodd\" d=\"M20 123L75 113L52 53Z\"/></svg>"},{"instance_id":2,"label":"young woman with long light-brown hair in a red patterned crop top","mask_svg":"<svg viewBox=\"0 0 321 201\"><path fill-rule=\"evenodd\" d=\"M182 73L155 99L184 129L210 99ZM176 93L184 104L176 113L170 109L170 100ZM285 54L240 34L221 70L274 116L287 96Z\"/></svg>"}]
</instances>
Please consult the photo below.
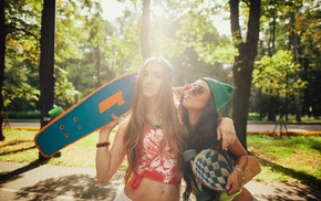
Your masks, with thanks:
<instances>
[{"instance_id":1,"label":"young woman with long light-brown hair in a red patterned crop top","mask_svg":"<svg viewBox=\"0 0 321 201\"><path fill-rule=\"evenodd\" d=\"M179 200L186 133L175 104L173 78L169 62L162 57L146 60L138 73L131 116L120 125L111 149L110 133L118 124L117 117L100 130L99 182L107 182L127 158L125 187L117 201ZM228 121L225 127L232 124ZM227 136L232 140L235 134Z\"/></svg>"}]
</instances>

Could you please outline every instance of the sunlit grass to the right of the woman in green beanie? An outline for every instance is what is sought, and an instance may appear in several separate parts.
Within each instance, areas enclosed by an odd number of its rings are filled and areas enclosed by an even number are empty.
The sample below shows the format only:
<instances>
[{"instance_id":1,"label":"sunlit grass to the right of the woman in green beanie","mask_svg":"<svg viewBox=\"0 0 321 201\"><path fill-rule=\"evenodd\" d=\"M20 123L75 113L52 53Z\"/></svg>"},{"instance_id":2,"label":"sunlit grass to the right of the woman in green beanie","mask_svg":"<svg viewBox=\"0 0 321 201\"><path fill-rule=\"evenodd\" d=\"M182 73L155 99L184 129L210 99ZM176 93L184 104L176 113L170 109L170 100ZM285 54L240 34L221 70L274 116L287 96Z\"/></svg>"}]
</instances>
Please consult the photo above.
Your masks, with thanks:
<instances>
[{"instance_id":1,"label":"sunlit grass to the right of the woman in green beanie","mask_svg":"<svg viewBox=\"0 0 321 201\"><path fill-rule=\"evenodd\" d=\"M248 151L261 163L260 181L321 183L321 137L291 136L276 139L248 135Z\"/></svg>"}]
</instances>

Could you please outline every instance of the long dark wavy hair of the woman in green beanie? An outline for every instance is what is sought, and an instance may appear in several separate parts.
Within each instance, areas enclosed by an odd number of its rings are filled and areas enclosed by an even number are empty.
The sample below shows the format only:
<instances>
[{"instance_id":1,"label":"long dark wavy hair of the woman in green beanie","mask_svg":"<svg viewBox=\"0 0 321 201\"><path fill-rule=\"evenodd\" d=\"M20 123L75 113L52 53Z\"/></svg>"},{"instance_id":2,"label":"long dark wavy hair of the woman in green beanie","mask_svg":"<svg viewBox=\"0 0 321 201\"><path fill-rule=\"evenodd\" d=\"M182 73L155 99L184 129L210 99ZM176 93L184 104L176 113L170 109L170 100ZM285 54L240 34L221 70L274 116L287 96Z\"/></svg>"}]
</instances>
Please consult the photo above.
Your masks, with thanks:
<instances>
[{"instance_id":1,"label":"long dark wavy hair of the woman in green beanie","mask_svg":"<svg viewBox=\"0 0 321 201\"><path fill-rule=\"evenodd\" d=\"M183 99L180 100L180 103ZM201 112L201 115L195 125L191 127L188 121L187 109L182 106L182 118L183 123L188 130L188 138L186 139L187 149L195 149L196 152L200 152L204 149L220 149L221 142L217 141L217 127L219 124L220 115L215 108L215 103L213 96L207 102L207 105ZM183 200L189 200L191 192L193 181L195 176L191 170L190 162L185 162L184 166L184 181L186 182L185 192L183 194ZM211 197L217 198L217 193L210 190Z\"/></svg>"}]
</instances>

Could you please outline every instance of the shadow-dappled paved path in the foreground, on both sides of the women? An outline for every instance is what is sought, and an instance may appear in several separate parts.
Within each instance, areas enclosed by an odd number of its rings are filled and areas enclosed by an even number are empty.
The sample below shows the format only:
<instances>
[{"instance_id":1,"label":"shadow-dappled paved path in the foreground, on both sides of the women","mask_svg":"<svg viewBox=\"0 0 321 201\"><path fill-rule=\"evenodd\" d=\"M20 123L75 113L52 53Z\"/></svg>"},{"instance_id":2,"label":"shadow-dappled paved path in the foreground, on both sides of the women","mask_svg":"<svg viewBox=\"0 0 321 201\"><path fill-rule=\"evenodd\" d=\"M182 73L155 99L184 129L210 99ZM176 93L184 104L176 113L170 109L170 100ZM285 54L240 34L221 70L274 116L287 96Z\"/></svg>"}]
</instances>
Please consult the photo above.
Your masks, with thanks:
<instances>
[{"instance_id":1,"label":"shadow-dappled paved path in the foreground, on both sides of the women","mask_svg":"<svg viewBox=\"0 0 321 201\"><path fill-rule=\"evenodd\" d=\"M107 200L123 187L123 172L106 184L95 180L94 168L0 162L0 200ZM321 200L320 188L306 184L250 181L246 187L259 201Z\"/></svg>"}]
</instances>

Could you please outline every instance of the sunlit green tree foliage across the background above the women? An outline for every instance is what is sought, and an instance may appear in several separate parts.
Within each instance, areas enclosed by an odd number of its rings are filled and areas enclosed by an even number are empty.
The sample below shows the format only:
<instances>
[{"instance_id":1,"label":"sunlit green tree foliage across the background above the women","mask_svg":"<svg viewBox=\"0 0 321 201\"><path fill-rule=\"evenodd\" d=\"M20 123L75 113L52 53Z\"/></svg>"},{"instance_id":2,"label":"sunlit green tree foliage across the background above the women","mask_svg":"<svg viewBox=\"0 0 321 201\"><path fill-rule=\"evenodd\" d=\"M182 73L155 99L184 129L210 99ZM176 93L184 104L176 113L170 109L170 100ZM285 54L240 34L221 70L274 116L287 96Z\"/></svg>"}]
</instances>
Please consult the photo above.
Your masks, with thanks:
<instances>
[{"instance_id":1,"label":"sunlit green tree foliage across the background above the women","mask_svg":"<svg viewBox=\"0 0 321 201\"><path fill-rule=\"evenodd\" d=\"M55 104L70 107L103 83L139 67L143 60L142 42L145 40L141 38L144 1L126 2L132 6L121 17L108 21L102 15L99 0L56 1ZM259 12L259 8L251 8L258 1L229 1L238 4L232 7L237 10L232 10L230 17L228 14L231 7L228 2L149 2L149 55L164 56L174 64L176 85L205 75L230 84L234 80L234 118L236 124L245 125L247 105L252 107L253 99L261 99L252 98L252 95L259 94L253 93L259 86L263 89L262 98L270 97L271 92L279 92L280 98L287 98L282 97L286 81L288 89L289 86L296 86L293 83L300 83L297 88L288 91L292 98L289 107L298 107L293 103L299 97L297 103L302 104L303 114L315 117L321 115L321 95L317 87L320 86L321 76L318 45L321 32L320 2L262 1L258 49L255 49L253 43L258 32L252 31L258 21L255 19L257 17L251 17ZM42 1L4 3L7 68L2 94L6 109L38 109ZM232 38L222 35L220 27L214 23L222 15L227 17L226 20L231 20ZM258 56L255 56L256 51ZM283 54L287 52L287 55L290 51L293 59L291 64L287 64L287 68L279 64L281 51ZM256 60L260 61L258 65L255 65ZM272 64L279 67L269 68ZM292 64L294 73L290 73L292 68L289 66ZM267 70L270 70L267 73L277 74L278 81L275 77L260 77ZM257 74L258 71L263 73ZM260 78L256 78L257 76ZM256 83L253 86L252 77ZM278 84L272 85L271 80ZM306 87L299 87L303 83L307 84ZM251 94L250 91L247 92L249 88L252 88ZM238 109L244 110L239 114ZM245 133L246 127L240 128Z\"/></svg>"}]
</instances>

